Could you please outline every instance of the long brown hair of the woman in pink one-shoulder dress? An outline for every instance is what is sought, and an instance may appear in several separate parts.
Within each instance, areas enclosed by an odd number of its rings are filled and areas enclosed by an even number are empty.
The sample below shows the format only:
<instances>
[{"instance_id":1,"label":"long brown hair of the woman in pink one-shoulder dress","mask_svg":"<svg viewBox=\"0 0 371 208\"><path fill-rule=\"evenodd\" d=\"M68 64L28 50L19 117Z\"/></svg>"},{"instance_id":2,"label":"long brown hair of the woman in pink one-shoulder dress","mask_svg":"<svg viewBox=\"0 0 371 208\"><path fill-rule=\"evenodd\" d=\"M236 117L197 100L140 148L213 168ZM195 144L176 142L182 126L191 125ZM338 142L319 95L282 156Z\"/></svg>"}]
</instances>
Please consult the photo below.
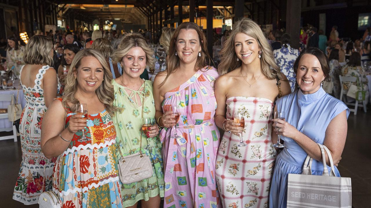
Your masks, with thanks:
<instances>
[{"instance_id":1,"label":"long brown hair of the woman in pink one-shoulder dress","mask_svg":"<svg viewBox=\"0 0 371 208\"><path fill-rule=\"evenodd\" d=\"M170 76L171 73L175 72L177 68L179 67L179 57L175 56L175 51L177 46L175 45L180 30L185 29L185 30L196 30L198 34L198 40L200 41L200 46L201 46L201 56L197 56L197 61L196 65L194 66L194 70L198 71L204 68L205 66L210 66L211 64L211 57L209 55L209 52L207 51L207 44L206 44L206 37L205 34L202 32L201 28L198 27L196 23L192 22L184 22L181 23L177 29L174 31L173 37L171 37L170 40L170 46L169 46L169 54L168 54L168 63L167 63L167 68L166 68L166 77L164 81L160 84L160 87L164 85L166 82L167 78ZM207 69L206 69L207 70Z\"/></svg>"}]
</instances>

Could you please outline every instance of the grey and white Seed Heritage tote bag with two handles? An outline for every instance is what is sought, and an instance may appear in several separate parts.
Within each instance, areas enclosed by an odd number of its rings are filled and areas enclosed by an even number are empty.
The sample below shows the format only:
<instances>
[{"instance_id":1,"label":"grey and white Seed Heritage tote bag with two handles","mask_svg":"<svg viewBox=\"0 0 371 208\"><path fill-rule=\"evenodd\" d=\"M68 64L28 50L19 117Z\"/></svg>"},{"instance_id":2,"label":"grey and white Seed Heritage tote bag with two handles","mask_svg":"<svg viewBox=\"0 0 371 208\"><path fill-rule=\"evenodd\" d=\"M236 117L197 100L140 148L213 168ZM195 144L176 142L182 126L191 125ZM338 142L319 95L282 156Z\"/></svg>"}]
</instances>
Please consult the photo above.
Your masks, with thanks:
<instances>
[{"instance_id":1,"label":"grey and white Seed Heritage tote bag with two handles","mask_svg":"<svg viewBox=\"0 0 371 208\"><path fill-rule=\"evenodd\" d=\"M322 152L324 172L311 175L313 158L306 157L302 174L289 174L287 187L287 208L351 208L351 178L336 177L334 162L325 145L318 144ZM331 171L328 172L325 151L327 152Z\"/></svg>"}]
</instances>

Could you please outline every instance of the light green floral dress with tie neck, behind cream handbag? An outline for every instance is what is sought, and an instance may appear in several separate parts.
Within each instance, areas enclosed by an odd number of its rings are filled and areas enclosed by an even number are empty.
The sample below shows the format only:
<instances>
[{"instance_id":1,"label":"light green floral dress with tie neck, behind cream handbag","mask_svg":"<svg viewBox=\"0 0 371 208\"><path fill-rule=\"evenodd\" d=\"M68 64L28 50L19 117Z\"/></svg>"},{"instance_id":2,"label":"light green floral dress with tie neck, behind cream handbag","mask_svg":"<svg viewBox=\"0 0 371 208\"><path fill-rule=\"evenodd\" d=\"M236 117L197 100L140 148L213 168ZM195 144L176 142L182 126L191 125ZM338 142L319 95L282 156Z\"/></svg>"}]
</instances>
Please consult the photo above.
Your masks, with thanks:
<instances>
[{"instance_id":1,"label":"light green floral dress with tie neck, behind cream handbag","mask_svg":"<svg viewBox=\"0 0 371 208\"><path fill-rule=\"evenodd\" d=\"M119 108L114 117L114 123L117 130L116 155L118 158L123 156L145 152L151 158L153 175L142 181L131 184L122 184L122 204L124 207L130 207L139 200L148 201L150 197L160 195L164 197L164 172L161 156L162 144L158 137L148 138L152 150L145 150L147 147L147 136L142 131L142 98L144 97L143 117L155 117L155 101L152 93L152 81L145 80L139 91L133 91L128 94L126 87L112 81L115 91L114 106ZM143 92L144 87L144 92ZM135 97L141 98L137 100ZM153 123L154 124L154 123ZM142 138L142 146L140 140ZM120 152L121 151L121 152Z\"/></svg>"}]
</instances>

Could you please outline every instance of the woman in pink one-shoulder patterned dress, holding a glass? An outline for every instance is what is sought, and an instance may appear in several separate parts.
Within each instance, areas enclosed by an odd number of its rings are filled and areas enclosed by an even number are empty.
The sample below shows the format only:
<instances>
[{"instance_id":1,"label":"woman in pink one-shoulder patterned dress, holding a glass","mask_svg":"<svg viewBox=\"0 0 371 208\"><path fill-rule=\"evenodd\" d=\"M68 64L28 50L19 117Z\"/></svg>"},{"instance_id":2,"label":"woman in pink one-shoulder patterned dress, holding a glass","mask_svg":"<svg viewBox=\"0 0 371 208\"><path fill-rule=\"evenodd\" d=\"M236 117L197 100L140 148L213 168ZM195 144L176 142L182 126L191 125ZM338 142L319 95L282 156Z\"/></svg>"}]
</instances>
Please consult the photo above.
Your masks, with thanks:
<instances>
[{"instance_id":1,"label":"woman in pink one-shoulder patterned dress, holding a glass","mask_svg":"<svg viewBox=\"0 0 371 208\"><path fill-rule=\"evenodd\" d=\"M221 207L215 181L219 131L214 122L215 68L206 37L195 23L182 23L170 41L168 67L154 81L156 119L165 169L165 208ZM210 63L209 63L210 64ZM170 112L177 105L180 120ZM180 138L171 138L174 125Z\"/></svg>"}]
</instances>

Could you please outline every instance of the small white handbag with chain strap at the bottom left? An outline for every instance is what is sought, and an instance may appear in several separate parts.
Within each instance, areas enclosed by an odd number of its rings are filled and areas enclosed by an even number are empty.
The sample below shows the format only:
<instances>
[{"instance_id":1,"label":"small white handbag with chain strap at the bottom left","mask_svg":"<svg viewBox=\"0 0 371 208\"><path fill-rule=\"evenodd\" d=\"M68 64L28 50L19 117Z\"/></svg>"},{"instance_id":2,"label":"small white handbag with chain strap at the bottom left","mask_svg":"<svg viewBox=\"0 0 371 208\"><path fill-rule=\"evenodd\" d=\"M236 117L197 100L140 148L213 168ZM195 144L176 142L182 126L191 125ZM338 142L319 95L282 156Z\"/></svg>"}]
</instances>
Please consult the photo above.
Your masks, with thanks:
<instances>
[{"instance_id":1,"label":"small white handbag with chain strap at the bottom left","mask_svg":"<svg viewBox=\"0 0 371 208\"><path fill-rule=\"evenodd\" d=\"M66 128L66 119L67 119L67 112L66 112L66 106L65 106L65 123L64 128ZM58 189L60 189L60 180L62 178L62 161L63 161L63 153L59 156L59 180L57 180ZM44 165L44 177L43 177L43 188L42 193L39 196L39 208L61 208L61 205L59 203L59 194L55 194L53 190L45 191L45 168L46 163ZM57 170L58 171L58 170ZM59 191L59 190L58 190Z\"/></svg>"}]
</instances>

